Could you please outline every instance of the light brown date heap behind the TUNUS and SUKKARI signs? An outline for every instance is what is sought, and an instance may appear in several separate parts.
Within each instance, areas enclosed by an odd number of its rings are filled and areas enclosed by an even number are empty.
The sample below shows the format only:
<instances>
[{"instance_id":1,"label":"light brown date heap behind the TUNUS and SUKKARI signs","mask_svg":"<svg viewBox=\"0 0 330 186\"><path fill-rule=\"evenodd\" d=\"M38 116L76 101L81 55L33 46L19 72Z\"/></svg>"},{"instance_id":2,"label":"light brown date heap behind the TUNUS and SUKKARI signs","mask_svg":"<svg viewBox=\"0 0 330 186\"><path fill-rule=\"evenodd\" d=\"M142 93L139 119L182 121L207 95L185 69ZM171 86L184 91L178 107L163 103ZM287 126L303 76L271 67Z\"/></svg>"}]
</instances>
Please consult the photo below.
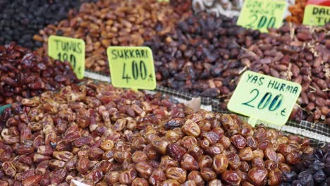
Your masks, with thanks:
<instances>
[{"instance_id":1,"label":"light brown date heap behind the TUNUS and SUKKARI signs","mask_svg":"<svg viewBox=\"0 0 330 186\"><path fill-rule=\"evenodd\" d=\"M157 0L102 0L82 4L78 15L71 15L57 25L49 25L34 38L44 42L42 52L47 51L50 35L84 39L86 68L109 73L108 46L140 46L156 34L170 32L174 23L183 17L169 4Z\"/></svg>"}]
</instances>

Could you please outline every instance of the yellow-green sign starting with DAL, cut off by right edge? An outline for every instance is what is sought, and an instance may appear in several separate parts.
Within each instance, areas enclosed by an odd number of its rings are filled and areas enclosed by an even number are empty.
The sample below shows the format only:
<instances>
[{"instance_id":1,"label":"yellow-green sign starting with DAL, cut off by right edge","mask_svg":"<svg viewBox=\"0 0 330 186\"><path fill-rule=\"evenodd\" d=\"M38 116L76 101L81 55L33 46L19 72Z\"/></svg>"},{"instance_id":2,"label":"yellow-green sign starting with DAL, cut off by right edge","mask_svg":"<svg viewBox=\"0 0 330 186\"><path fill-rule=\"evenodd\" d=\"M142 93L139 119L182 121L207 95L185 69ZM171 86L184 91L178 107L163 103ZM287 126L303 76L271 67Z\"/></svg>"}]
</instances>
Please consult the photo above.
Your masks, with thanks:
<instances>
[{"instance_id":1,"label":"yellow-green sign starting with DAL, cut off by right edge","mask_svg":"<svg viewBox=\"0 0 330 186\"><path fill-rule=\"evenodd\" d=\"M330 7L309 4L305 7L304 20L302 24L312 26L323 26L330 23Z\"/></svg>"}]
</instances>

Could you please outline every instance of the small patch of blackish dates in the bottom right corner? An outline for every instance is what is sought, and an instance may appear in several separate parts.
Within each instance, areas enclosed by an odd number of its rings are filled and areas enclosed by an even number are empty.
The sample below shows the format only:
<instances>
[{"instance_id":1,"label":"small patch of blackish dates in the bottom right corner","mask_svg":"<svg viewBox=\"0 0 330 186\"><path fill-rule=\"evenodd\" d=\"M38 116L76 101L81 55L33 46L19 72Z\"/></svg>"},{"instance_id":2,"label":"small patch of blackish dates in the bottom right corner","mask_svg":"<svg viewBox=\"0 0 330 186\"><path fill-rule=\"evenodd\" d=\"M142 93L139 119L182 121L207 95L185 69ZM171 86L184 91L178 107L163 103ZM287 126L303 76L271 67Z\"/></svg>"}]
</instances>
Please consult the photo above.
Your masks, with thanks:
<instances>
[{"instance_id":1,"label":"small patch of blackish dates in the bottom right corner","mask_svg":"<svg viewBox=\"0 0 330 186\"><path fill-rule=\"evenodd\" d=\"M330 144L314 149L313 154L302 156L293 171L283 172L281 186L330 185Z\"/></svg>"}]
</instances>

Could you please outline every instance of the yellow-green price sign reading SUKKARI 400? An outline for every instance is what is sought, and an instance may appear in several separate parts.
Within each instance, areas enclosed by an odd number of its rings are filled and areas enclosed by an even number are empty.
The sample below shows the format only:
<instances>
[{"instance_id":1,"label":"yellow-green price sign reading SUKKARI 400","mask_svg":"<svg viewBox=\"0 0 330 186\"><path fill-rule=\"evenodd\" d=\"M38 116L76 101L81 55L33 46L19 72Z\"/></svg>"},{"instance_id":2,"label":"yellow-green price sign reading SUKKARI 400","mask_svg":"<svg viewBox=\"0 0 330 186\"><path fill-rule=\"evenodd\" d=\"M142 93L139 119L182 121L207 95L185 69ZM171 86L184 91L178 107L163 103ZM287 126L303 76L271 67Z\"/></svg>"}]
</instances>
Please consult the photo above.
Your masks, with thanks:
<instances>
[{"instance_id":1,"label":"yellow-green price sign reading SUKKARI 400","mask_svg":"<svg viewBox=\"0 0 330 186\"><path fill-rule=\"evenodd\" d=\"M109 46L111 82L114 87L156 89L154 59L147 46Z\"/></svg>"}]
</instances>

